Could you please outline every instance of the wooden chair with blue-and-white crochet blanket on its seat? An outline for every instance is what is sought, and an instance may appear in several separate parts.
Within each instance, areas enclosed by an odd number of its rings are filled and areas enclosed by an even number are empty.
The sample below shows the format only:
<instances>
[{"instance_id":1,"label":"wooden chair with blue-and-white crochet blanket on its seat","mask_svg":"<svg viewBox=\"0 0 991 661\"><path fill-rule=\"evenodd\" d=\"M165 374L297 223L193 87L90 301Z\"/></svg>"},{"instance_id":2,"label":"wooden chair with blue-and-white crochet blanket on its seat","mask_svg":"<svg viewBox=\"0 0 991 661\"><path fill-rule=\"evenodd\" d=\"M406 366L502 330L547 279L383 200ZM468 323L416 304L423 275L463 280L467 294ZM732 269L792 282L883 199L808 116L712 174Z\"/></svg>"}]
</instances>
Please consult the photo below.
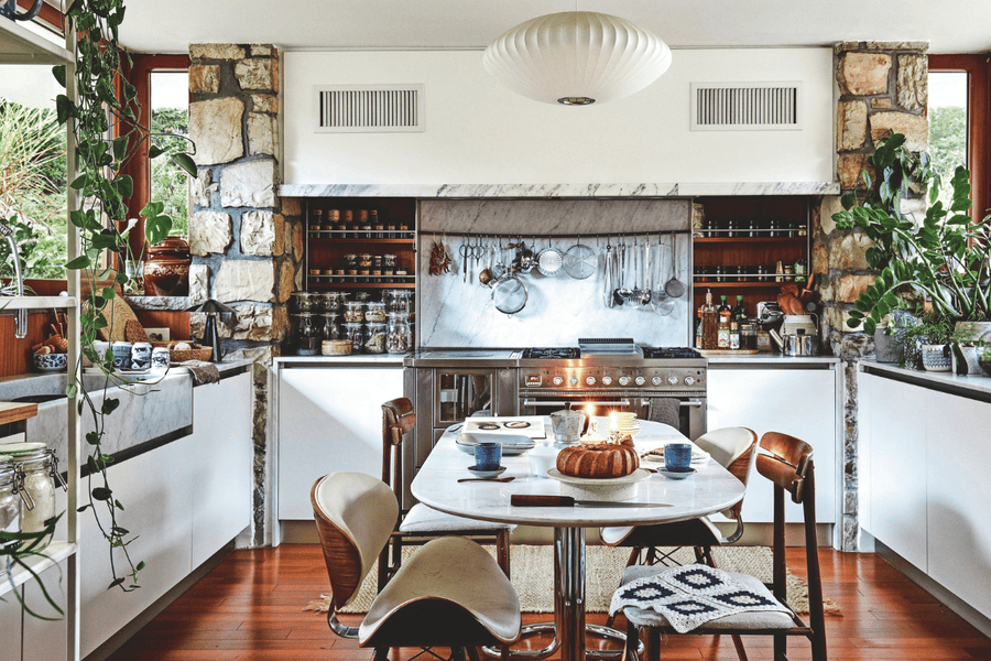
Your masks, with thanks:
<instances>
[{"instance_id":1,"label":"wooden chair with blue-and-white crochet blanket on its seat","mask_svg":"<svg viewBox=\"0 0 991 661\"><path fill-rule=\"evenodd\" d=\"M730 573L730 577L742 583L761 599L776 600L785 611L763 610L738 613L714 619L693 629L690 635L734 635L736 636L771 636L774 638L774 659L787 660L787 637L804 636L812 643L813 661L826 661L826 628L823 608L823 586L819 574L819 556L816 546L816 501L815 470L813 448L805 442L781 434L769 432L760 443L767 454L756 456L756 469L774 484L774 540L773 540L773 582L764 585L748 574ZM806 572L808 579L809 624L806 625L794 609L787 606L786 564L785 564L785 492L792 501L802 506L805 528ZM638 578L656 575L668 571L660 566L632 566L623 572L624 586ZM769 589L770 588L770 589ZM629 594L630 590L627 592ZM662 633L675 633L668 620L654 609L628 606L623 610L627 617L627 636L629 641L638 639L639 631L647 632L647 661L660 659L660 638ZM635 652L628 648L625 658L635 661ZM737 652L745 661L747 654L742 643L737 644Z\"/></svg>"}]
</instances>

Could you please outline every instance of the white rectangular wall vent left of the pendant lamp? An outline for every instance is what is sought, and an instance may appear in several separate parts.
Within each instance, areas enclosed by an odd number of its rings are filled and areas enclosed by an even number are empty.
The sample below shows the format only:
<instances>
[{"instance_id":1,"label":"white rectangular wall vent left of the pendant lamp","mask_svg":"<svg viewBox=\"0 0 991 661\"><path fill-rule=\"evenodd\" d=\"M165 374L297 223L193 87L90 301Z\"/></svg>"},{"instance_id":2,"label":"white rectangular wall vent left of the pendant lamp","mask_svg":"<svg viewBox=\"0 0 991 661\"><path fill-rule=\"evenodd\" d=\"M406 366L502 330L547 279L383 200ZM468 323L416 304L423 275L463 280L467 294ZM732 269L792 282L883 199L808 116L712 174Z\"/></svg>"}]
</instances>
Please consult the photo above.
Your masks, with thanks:
<instances>
[{"instance_id":1,"label":"white rectangular wall vent left of the pendant lamp","mask_svg":"<svg viewBox=\"0 0 991 661\"><path fill-rule=\"evenodd\" d=\"M423 85L314 87L317 133L423 131Z\"/></svg>"}]
</instances>

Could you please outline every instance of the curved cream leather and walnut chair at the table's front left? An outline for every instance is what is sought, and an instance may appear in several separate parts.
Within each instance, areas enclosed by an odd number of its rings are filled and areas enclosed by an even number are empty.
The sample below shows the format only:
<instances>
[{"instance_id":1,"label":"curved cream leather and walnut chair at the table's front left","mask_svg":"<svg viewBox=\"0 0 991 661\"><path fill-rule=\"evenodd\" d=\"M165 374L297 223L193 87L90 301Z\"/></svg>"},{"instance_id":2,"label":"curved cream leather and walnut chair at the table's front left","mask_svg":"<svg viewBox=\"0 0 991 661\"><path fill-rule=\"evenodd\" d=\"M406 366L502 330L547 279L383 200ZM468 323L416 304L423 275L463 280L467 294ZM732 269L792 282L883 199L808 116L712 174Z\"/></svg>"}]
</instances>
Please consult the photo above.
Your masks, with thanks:
<instances>
[{"instance_id":1,"label":"curved cream leather and walnut chair at the table's front left","mask_svg":"<svg viewBox=\"0 0 991 661\"><path fill-rule=\"evenodd\" d=\"M374 648L446 647L451 659L467 651L478 661L481 646L505 646L520 637L520 600L492 556L465 538L434 540L400 568L359 627L337 611L356 594L393 532L399 503L388 485L361 473L331 473L311 491L324 561L330 577L330 629ZM503 652L504 653L504 652Z\"/></svg>"}]
</instances>

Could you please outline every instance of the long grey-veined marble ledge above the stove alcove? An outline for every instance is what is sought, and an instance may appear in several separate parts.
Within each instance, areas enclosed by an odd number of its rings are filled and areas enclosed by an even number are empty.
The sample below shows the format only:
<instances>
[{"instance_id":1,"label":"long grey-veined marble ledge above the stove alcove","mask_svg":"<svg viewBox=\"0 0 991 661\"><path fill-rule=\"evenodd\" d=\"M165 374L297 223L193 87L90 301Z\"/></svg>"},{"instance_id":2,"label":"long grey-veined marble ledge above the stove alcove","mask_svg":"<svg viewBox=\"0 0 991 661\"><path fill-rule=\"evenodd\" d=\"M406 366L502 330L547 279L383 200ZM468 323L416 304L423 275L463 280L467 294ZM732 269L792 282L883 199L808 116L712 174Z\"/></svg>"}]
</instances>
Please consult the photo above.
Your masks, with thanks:
<instances>
[{"instance_id":1,"label":"long grey-veined marble ledge above the stove alcove","mask_svg":"<svg viewBox=\"0 0 991 661\"><path fill-rule=\"evenodd\" d=\"M653 184L283 184L282 197L609 198L839 195L837 182Z\"/></svg>"}]
</instances>

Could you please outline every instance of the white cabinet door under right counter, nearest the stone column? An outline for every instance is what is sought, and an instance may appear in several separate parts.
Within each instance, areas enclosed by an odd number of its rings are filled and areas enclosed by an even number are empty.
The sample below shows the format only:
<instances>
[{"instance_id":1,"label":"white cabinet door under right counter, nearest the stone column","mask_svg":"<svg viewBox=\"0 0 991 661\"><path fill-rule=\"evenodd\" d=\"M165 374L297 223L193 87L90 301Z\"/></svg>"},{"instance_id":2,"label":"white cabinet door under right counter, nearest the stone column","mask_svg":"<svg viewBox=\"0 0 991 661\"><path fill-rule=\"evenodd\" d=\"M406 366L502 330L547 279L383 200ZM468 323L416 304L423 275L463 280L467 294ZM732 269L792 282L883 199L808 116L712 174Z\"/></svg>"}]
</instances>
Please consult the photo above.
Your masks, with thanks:
<instances>
[{"instance_id":1,"label":"white cabinet door under right counter, nearest the stone column","mask_svg":"<svg viewBox=\"0 0 991 661\"><path fill-rule=\"evenodd\" d=\"M927 390L872 375L870 383L870 520L864 529L926 571Z\"/></svg>"}]
</instances>

